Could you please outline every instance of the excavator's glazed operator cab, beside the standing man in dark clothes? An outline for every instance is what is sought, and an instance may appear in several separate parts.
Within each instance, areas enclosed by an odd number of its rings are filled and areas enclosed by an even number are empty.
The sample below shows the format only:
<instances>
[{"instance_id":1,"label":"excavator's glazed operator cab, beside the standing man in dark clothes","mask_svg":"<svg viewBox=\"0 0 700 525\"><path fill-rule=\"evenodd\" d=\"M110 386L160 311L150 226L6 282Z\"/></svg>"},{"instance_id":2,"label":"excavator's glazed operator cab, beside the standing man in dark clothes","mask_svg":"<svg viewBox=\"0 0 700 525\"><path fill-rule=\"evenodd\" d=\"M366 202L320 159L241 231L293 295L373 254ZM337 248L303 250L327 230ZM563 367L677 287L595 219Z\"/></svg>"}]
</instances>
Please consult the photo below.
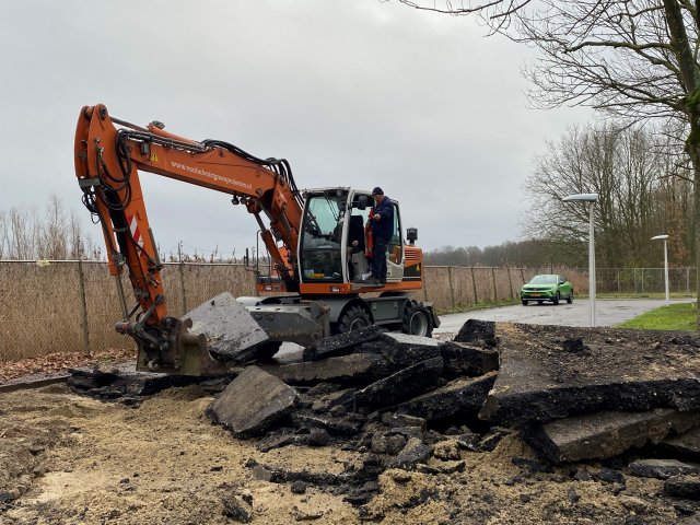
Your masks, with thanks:
<instances>
[{"instance_id":1,"label":"excavator's glazed operator cab, beside the standing man in dark clothes","mask_svg":"<svg viewBox=\"0 0 700 525\"><path fill-rule=\"evenodd\" d=\"M361 285L369 272L371 241L365 232L374 199L350 188L310 190L304 196L299 257L301 283ZM404 243L398 203L387 250L387 283L404 277ZM353 287L355 288L355 287Z\"/></svg>"}]
</instances>

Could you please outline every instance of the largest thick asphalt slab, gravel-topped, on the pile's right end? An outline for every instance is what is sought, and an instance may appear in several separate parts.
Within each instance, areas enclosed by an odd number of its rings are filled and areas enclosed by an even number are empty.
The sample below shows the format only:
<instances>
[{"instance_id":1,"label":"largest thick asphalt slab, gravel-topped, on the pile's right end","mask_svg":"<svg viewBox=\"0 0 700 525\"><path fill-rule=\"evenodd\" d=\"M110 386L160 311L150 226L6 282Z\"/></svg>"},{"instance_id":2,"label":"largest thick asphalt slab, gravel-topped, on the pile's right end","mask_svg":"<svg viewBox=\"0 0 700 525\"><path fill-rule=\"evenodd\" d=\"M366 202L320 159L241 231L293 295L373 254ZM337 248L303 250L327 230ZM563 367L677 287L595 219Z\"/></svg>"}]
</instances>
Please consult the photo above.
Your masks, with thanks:
<instances>
[{"instance_id":1,"label":"largest thick asphalt slab, gravel-topped, on the pile's right end","mask_svg":"<svg viewBox=\"0 0 700 525\"><path fill-rule=\"evenodd\" d=\"M599 329L567 327L570 338L587 347L570 352L551 327L495 326L500 372L483 419L524 424L602 410L700 409L700 352L695 347L674 346L639 359L639 342L628 341L623 329L606 329L610 337L602 341Z\"/></svg>"}]
</instances>

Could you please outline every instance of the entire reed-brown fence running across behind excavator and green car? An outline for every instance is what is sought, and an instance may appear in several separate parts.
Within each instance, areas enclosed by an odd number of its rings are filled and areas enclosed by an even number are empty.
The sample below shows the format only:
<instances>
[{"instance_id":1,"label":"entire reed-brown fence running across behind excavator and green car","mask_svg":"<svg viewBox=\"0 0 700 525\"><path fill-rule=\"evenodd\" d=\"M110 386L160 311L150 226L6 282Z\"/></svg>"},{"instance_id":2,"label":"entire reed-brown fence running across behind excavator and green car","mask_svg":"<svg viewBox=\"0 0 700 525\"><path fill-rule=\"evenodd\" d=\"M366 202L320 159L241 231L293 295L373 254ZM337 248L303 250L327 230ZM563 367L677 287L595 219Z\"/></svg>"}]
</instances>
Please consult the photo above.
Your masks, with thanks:
<instances>
[{"instance_id":1,"label":"entire reed-brown fence running across behind excavator and green car","mask_svg":"<svg viewBox=\"0 0 700 525\"><path fill-rule=\"evenodd\" d=\"M432 266L424 268L423 290L415 298L443 310L514 300L537 273L562 273L578 295L587 294L584 269ZM257 294L255 275L240 264L166 262L162 276L174 316L223 291L235 296ZM115 279L102 261L0 261L0 362L132 348L129 337L114 330L122 317ZM127 302L136 304L128 278L120 279ZM695 269L670 269L669 284L674 293L692 294ZM596 287L599 293L663 293L663 268L598 269Z\"/></svg>"}]
</instances>

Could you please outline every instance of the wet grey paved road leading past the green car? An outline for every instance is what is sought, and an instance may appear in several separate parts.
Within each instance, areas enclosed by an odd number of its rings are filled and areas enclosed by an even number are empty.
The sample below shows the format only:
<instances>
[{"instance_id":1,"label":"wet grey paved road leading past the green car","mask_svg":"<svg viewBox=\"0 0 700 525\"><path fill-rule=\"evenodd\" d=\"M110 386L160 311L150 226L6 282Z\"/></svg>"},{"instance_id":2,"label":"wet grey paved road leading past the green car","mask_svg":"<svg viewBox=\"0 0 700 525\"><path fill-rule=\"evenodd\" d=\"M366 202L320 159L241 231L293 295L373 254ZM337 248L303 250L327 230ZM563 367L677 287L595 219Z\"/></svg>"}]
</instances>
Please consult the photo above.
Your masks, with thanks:
<instances>
[{"instance_id":1,"label":"wet grey paved road leading past the green car","mask_svg":"<svg viewBox=\"0 0 700 525\"><path fill-rule=\"evenodd\" d=\"M677 300L672 302L691 302L692 300ZM637 317L644 312L664 305L663 299L626 299L626 300L597 300L596 325L611 326ZM511 320L514 323L527 323L535 325L567 325L588 326L591 318L591 304L587 300L576 299L573 304L551 303L533 304L528 306L503 306L500 308L479 310L464 314L451 314L440 316L440 328L434 334L456 334L467 319L480 320Z\"/></svg>"}]
</instances>

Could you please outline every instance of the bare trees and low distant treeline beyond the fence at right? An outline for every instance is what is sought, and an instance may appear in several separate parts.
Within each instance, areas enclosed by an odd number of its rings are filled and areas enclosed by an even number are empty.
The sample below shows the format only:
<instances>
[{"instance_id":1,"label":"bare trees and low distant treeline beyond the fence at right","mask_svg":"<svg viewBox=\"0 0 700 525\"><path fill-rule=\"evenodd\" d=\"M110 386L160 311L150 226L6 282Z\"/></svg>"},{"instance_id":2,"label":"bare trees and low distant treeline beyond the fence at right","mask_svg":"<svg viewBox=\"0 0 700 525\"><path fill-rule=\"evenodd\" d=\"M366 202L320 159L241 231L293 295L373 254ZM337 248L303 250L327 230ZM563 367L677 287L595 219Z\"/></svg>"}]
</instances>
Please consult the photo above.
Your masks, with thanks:
<instances>
[{"instance_id":1,"label":"bare trees and low distant treeline beyond the fence at right","mask_svg":"<svg viewBox=\"0 0 700 525\"><path fill-rule=\"evenodd\" d=\"M526 241L499 246L445 247L427 254L436 265L587 266L588 210L563 196L597 192L596 261L599 267L655 267L668 234L670 266L693 266L693 185L678 167L682 151L650 126L611 122L574 127L535 159L524 192L530 211L522 222Z\"/></svg>"}]
</instances>

